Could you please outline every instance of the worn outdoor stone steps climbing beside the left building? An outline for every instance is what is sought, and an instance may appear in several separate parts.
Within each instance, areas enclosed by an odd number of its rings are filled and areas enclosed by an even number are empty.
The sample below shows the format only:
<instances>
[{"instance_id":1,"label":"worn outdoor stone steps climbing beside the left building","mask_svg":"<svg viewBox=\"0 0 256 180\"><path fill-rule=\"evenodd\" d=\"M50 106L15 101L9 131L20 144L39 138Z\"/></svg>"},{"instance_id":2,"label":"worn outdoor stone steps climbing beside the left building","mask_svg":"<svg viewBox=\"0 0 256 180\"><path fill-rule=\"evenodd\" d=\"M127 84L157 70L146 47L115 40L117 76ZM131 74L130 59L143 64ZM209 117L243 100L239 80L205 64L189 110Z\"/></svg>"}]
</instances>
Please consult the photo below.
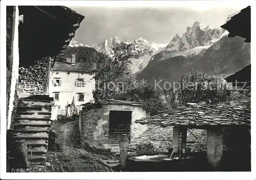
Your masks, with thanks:
<instances>
[{"instance_id":1,"label":"worn outdoor stone steps climbing beside the left building","mask_svg":"<svg viewBox=\"0 0 256 180\"><path fill-rule=\"evenodd\" d=\"M19 98L13 123L13 140L28 146L29 166L45 166L51 121L51 101L47 95ZM32 154L31 154L32 152Z\"/></svg>"}]
</instances>

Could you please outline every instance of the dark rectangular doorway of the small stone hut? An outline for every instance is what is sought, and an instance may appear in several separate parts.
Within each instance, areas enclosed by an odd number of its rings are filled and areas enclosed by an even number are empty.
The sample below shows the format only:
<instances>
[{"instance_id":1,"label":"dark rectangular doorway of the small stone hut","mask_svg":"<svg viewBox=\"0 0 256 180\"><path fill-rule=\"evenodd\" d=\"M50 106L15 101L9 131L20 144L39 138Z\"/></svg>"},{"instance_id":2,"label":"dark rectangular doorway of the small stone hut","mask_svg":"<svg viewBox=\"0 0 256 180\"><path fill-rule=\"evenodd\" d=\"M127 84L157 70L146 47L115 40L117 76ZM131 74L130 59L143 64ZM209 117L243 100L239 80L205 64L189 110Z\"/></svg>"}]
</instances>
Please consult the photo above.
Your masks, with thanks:
<instances>
[{"instance_id":1,"label":"dark rectangular doorway of the small stone hut","mask_svg":"<svg viewBox=\"0 0 256 180\"><path fill-rule=\"evenodd\" d=\"M122 134L131 138L132 111L110 111L109 144L119 144Z\"/></svg>"}]
</instances>

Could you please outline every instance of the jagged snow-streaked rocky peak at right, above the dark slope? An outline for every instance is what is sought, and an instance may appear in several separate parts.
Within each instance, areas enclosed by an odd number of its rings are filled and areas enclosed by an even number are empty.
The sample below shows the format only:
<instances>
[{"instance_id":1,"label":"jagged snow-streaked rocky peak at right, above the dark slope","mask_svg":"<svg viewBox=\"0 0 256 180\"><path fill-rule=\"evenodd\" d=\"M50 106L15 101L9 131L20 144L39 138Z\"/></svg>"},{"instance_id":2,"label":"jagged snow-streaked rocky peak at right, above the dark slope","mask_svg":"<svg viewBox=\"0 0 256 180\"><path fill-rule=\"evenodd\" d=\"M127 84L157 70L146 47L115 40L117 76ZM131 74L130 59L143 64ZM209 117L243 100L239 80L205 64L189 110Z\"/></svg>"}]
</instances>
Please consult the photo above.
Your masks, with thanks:
<instances>
[{"instance_id":1,"label":"jagged snow-streaked rocky peak at right, above the dark slope","mask_svg":"<svg viewBox=\"0 0 256 180\"><path fill-rule=\"evenodd\" d=\"M184 34L176 34L165 49L153 56L150 62L176 56L203 55L206 49L227 34L228 32L224 29L215 29L196 21L192 27L187 27Z\"/></svg>"}]
</instances>

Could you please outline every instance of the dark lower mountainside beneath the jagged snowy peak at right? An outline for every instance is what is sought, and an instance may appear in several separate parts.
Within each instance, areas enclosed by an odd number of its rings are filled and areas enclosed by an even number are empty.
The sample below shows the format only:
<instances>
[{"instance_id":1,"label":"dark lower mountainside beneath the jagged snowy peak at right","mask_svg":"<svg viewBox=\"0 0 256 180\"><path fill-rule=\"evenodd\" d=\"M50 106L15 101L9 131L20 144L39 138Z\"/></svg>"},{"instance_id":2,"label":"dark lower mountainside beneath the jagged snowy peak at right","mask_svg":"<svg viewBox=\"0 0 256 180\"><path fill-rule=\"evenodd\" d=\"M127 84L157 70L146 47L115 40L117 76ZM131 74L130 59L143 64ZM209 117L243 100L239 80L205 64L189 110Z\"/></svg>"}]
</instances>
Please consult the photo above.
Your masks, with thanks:
<instances>
[{"instance_id":1,"label":"dark lower mountainside beneath the jagged snowy peak at right","mask_svg":"<svg viewBox=\"0 0 256 180\"><path fill-rule=\"evenodd\" d=\"M157 56L161 55L155 55ZM202 70L209 75L233 74L249 64L250 44L245 43L240 37L225 36L205 49L204 53L191 57L175 56L158 62L151 61L138 74L138 78L147 80L151 85L155 84L155 80L173 83L191 70Z\"/></svg>"}]
</instances>

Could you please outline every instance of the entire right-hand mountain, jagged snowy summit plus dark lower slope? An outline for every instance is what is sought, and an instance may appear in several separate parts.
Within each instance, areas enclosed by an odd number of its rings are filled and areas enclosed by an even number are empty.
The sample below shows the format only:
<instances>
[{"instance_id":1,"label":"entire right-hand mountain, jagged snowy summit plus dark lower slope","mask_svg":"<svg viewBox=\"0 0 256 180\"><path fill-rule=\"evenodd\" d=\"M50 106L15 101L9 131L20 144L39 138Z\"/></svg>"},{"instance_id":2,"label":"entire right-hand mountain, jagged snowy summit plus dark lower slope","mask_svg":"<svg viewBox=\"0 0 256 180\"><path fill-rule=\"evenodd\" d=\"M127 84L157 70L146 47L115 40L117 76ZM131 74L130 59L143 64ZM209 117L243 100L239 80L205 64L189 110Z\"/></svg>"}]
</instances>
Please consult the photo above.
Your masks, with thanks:
<instances>
[{"instance_id":1,"label":"entire right-hand mountain, jagged snowy summit plus dark lower slope","mask_svg":"<svg viewBox=\"0 0 256 180\"><path fill-rule=\"evenodd\" d=\"M224 29L196 21L182 36L176 34L164 50L152 56L138 78L154 85L160 80L162 84L177 82L191 70L210 75L237 72L250 64L250 44L244 38L227 35Z\"/></svg>"}]
</instances>

